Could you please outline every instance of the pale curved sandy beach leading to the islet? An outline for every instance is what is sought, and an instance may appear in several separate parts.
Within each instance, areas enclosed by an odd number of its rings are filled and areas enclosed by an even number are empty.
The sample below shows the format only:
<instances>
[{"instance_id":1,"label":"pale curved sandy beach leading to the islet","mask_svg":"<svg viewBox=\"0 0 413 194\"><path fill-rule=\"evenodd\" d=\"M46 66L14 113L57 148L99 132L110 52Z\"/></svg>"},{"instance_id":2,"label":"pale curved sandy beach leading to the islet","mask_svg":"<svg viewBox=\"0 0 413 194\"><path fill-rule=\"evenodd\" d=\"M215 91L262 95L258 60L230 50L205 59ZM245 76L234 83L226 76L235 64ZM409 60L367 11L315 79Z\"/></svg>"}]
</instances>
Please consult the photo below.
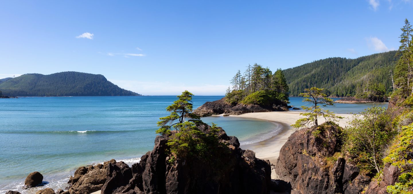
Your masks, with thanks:
<instances>
[{"instance_id":1,"label":"pale curved sandy beach leading to the islet","mask_svg":"<svg viewBox=\"0 0 413 194\"><path fill-rule=\"evenodd\" d=\"M288 112L263 112L263 113L246 113L242 115L230 115L231 117L241 118L256 118L267 120L270 122L278 122L282 125L282 131L271 137L270 139L240 146L242 149L253 150L257 158L268 159L272 164L277 163L278 155L280 155L281 147L288 140L288 137L294 132L290 125L294 124L296 120L302 118L301 111ZM336 114L344 117L339 121L341 127L347 126L347 122L354 117L353 114ZM318 123L325 122L324 118L318 120Z\"/></svg>"}]
</instances>

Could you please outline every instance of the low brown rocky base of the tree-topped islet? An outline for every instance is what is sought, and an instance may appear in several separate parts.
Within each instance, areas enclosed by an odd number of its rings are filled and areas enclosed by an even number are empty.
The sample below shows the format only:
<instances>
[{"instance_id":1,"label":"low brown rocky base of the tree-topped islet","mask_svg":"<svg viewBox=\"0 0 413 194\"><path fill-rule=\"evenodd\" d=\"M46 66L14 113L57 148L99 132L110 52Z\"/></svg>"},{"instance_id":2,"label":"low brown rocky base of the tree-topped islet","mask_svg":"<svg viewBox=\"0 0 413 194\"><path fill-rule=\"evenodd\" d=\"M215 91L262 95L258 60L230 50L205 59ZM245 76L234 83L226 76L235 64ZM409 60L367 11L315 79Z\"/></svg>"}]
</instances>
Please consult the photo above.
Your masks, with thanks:
<instances>
[{"instance_id":1,"label":"low brown rocky base of the tree-topped islet","mask_svg":"<svg viewBox=\"0 0 413 194\"><path fill-rule=\"evenodd\" d=\"M287 104L281 101L276 101L272 106L260 106L257 104L230 104L225 102L225 97L214 102L205 102L202 106L199 106L194 113L201 117L230 114L240 115L244 113L259 113L259 112L271 112L271 111L288 111Z\"/></svg>"}]
</instances>

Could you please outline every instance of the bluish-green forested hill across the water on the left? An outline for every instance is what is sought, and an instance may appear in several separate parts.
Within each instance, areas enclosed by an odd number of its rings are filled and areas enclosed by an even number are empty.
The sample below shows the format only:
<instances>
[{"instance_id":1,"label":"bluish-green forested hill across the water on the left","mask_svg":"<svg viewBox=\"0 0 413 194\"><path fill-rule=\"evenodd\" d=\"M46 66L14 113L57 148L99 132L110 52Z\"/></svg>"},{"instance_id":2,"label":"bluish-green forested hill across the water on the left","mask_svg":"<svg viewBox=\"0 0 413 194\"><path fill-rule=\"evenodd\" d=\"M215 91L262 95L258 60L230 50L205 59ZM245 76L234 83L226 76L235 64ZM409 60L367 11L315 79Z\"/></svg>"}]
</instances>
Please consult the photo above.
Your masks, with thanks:
<instances>
[{"instance_id":1,"label":"bluish-green forested hill across the water on the left","mask_svg":"<svg viewBox=\"0 0 413 194\"><path fill-rule=\"evenodd\" d=\"M102 75L80 72L1 79L0 90L7 96L140 96L119 88Z\"/></svg>"}]
</instances>

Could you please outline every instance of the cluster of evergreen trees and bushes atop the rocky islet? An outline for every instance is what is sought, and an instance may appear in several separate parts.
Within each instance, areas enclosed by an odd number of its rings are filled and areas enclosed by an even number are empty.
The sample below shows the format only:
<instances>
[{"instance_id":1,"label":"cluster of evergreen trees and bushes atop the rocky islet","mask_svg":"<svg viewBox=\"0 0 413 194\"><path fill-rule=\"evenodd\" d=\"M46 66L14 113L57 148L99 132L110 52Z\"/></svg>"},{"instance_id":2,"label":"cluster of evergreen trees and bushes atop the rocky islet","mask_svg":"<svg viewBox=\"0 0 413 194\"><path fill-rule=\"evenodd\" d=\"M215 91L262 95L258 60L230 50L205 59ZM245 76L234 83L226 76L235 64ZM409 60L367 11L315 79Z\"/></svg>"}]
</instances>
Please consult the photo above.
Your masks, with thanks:
<instances>
[{"instance_id":1,"label":"cluster of evergreen trees and bushes atop the rocky islet","mask_svg":"<svg viewBox=\"0 0 413 194\"><path fill-rule=\"evenodd\" d=\"M288 85L281 69L273 74L261 65L248 65L244 74L241 71L231 79L232 89L228 87L226 101L231 104L258 104L271 106L276 100L288 101Z\"/></svg>"}]
</instances>

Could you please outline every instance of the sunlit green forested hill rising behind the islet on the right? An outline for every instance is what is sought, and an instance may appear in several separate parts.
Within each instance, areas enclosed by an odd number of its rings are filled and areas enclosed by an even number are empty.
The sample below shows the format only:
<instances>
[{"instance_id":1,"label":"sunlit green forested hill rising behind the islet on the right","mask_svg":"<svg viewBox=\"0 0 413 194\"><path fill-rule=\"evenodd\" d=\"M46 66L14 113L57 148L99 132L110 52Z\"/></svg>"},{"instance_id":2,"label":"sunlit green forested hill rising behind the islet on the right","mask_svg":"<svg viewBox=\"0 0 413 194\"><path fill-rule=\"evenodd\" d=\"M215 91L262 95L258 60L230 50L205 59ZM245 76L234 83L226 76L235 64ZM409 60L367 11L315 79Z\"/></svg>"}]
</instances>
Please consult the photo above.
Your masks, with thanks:
<instances>
[{"instance_id":1,"label":"sunlit green forested hill rising behind the islet on the right","mask_svg":"<svg viewBox=\"0 0 413 194\"><path fill-rule=\"evenodd\" d=\"M331 96L354 96L370 84L383 84L392 91L389 71L394 69L396 51L377 53L356 59L327 58L283 70L290 96L306 88L325 88Z\"/></svg>"}]
</instances>

